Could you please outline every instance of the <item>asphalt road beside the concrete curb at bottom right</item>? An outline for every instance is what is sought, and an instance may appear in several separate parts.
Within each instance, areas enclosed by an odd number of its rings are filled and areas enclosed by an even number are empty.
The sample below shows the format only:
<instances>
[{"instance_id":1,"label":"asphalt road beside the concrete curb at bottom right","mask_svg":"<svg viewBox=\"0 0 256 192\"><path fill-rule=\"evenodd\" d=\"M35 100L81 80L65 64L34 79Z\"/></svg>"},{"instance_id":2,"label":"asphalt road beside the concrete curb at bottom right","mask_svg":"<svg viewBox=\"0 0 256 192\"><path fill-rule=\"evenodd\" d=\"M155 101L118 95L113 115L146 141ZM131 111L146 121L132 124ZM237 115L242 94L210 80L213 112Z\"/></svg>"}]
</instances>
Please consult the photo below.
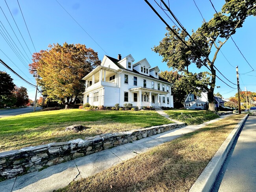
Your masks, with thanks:
<instances>
[{"instance_id":1,"label":"asphalt road beside the concrete curb at bottom right","mask_svg":"<svg viewBox=\"0 0 256 192\"><path fill-rule=\"evenodd\" d=\"M249 116L211 192L256 192L256 116Z\"/></svg>"}]
</instances>

